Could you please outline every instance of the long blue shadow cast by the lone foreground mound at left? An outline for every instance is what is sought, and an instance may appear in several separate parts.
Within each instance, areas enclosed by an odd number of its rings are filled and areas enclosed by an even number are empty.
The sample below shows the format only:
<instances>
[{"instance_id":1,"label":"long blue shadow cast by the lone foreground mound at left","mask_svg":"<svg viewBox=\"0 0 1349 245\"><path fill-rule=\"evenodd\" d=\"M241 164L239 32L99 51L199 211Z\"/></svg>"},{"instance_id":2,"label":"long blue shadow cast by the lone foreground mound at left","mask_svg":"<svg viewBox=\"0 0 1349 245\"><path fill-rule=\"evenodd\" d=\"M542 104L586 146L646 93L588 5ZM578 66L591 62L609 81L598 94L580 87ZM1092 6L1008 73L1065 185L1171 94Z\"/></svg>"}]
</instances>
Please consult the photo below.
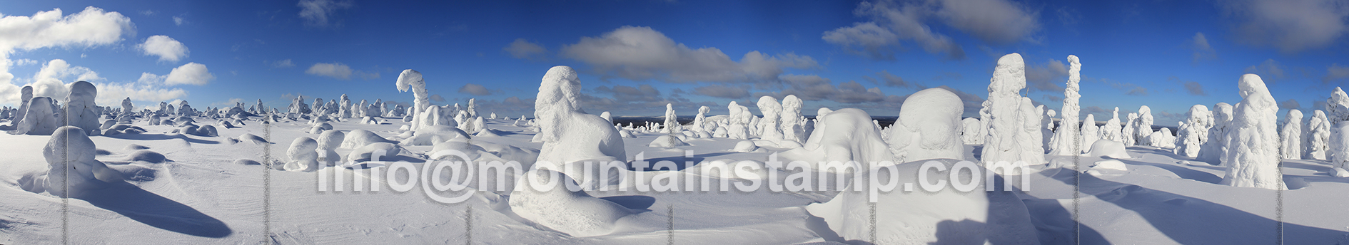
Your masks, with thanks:
<instances>
[{"instance_id":1,"label":"long blue shadow cast by the lone foreground mound at left","mask_svg":"<svg viewBox=\"0 0 1349 245\"><path fill-rule=\"evenodd\" d=\"M169 232L213 238L233 233L220 219L132 184L113 184L78 199Z\"/></svg>"}]
</instances>

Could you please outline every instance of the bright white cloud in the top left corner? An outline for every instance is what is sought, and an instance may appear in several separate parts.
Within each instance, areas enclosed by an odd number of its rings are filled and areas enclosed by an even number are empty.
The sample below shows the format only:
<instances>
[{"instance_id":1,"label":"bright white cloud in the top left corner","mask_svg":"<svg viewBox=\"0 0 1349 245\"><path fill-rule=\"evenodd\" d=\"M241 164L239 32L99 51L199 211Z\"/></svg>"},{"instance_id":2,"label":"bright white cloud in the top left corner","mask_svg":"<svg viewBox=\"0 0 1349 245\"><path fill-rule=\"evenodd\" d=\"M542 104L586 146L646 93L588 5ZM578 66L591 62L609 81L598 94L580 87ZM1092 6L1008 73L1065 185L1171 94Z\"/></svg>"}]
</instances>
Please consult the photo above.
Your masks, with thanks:
<instances>
[{"instance_id":1,"label":"bright white cloud in the top left corner","mask_svg":"<svg viewBox=\"0 0 1349 245\"><path fill-rule=\"evenodd\" d=\"M19 86L11 83L15 77L9 73L13 51L112 44L123 35L135 35L131 19L94 7L65 16L59 8L32 16L0 15L0 102L19 101Z\"/></svg>"}]
</instances>

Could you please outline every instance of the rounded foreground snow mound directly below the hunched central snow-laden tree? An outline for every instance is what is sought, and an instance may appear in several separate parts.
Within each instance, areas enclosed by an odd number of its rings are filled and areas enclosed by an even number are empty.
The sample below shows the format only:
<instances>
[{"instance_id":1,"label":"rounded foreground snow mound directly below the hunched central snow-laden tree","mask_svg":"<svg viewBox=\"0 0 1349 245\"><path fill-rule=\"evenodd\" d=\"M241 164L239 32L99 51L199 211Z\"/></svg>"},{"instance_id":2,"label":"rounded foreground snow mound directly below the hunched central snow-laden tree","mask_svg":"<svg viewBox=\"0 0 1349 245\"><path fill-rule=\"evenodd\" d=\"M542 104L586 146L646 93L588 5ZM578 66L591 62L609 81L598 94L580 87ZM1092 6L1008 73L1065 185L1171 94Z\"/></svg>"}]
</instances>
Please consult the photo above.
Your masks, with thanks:
<instances>
[{"instance_id":1,"label":"rounded foreground snow mound directly below the hunched central snow-laden tree","mask_svg":"<svg viewBox=\"0 0 1349 245\"><path fill-rule=\"evenodd\" d=\"M521 218L572 237L610 234L618 221L633 211L618 203L599 199L585 191L571 191L576 180L556 171L533 170L517 180L522 187L511 191L510 209Z\"/></svg>"}]
</instances>

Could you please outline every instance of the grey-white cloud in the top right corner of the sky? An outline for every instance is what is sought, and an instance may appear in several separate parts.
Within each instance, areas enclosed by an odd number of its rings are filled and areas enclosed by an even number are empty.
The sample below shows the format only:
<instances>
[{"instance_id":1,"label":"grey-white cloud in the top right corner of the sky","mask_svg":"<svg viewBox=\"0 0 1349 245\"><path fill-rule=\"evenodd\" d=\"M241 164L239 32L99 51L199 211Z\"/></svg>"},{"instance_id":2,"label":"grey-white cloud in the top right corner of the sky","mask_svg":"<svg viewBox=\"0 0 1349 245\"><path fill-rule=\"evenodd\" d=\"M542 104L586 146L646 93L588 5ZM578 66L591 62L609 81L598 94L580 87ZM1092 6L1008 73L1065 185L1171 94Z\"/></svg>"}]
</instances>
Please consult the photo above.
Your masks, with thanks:
<instances>
[{"instance_id":1,"label":"grey-white cloud in the top right corner of the sky","mask_svg":"<svg viewBox=\"0 0 1349 245\"><path fill-rule=\"evenodd\" d=\"M1217 1L1236 22L1236 40L1272 46L1294 54L1336 43L1349 31L1349 4L1342 0Z\"/></svg>"}]
</instances>

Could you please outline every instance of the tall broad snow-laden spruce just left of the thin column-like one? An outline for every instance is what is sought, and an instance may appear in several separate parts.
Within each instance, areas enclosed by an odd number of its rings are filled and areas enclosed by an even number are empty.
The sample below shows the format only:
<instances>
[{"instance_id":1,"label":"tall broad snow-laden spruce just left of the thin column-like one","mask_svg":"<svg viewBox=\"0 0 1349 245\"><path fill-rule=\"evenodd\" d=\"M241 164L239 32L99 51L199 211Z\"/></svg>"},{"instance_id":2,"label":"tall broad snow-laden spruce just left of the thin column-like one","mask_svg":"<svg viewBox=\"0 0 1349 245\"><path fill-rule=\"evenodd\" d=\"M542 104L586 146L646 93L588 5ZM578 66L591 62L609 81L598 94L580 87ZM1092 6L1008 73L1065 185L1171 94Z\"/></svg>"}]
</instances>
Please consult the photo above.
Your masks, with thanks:
<instances>
[{"instance_id":1,"label":"tall broad snow-laden spruce just left of the thin column-like one","mask_svg":"<svg viewBox=\"0 0 1349 245\"><path fill-rule=\"evenodd\" d=\"M1044 163L1044 148L1040 147L1039 139L1031 136L1031 133L1040 133L1036 129L1040 118L1027 117L1027 114L1039 114L1039 112L1029 112L1035 106L1031 106L1029 100L1023 100L1021 89L1025 89L1025 62L1021 61L1021 54L1004 55L993 70L993 78L989 79L989 100L983 102L989 114L990 132L983 140L983 153L979 159L983 163ZM1028 128L1027 125L1036 127Z\"/></svg>"}]
</instances>

